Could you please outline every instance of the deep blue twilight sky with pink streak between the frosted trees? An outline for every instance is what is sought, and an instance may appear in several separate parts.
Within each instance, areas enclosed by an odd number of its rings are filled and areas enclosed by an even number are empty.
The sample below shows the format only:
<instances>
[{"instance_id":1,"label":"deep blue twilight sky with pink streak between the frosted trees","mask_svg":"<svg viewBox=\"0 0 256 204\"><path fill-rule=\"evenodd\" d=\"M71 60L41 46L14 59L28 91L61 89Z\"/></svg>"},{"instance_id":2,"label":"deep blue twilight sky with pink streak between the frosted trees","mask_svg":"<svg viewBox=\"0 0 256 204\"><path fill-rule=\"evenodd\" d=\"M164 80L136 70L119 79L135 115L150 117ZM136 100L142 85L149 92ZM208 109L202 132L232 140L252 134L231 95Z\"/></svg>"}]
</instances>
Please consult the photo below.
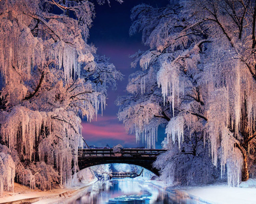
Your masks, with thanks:
<instances>
[{"instance_id":1,"label":"deep blue twilight sky with pink streak between the frosted trees","mask_svg":"<svg viewBox=\"0 0 256 204\"><path fill-rule=\"evenodd\" d=\"M144 146L136 144L135 135L127 134L123 123L119 122L117 113L119 107L114 104L118 95L125 94L125 88L128 77L131 73L139 70L131 68L131 59L129 55L140 50L147 50L148 47L141 43L141 34L129 36L129 28L131 26L131 9L141 3L150 4L155 7L166 5L168 0L125 0L123 4L119 4L114 0L111 1L111 7L106 3L104 5L95 5L96 18L93 21L93 27L90 29L90 39L98 47L97 54L110 57L116 69L120 70L125 78L118 81L117 90L108 90L107 106L103 111L103 116L98 114L97 121L82 121L82 135L86 139L88 145L104 147L109 144L121 144L123 147ZM161 148L161 142L165 135L164 130L158 131L158 142L156 148Z\"/></svg>"}]
</instances>

